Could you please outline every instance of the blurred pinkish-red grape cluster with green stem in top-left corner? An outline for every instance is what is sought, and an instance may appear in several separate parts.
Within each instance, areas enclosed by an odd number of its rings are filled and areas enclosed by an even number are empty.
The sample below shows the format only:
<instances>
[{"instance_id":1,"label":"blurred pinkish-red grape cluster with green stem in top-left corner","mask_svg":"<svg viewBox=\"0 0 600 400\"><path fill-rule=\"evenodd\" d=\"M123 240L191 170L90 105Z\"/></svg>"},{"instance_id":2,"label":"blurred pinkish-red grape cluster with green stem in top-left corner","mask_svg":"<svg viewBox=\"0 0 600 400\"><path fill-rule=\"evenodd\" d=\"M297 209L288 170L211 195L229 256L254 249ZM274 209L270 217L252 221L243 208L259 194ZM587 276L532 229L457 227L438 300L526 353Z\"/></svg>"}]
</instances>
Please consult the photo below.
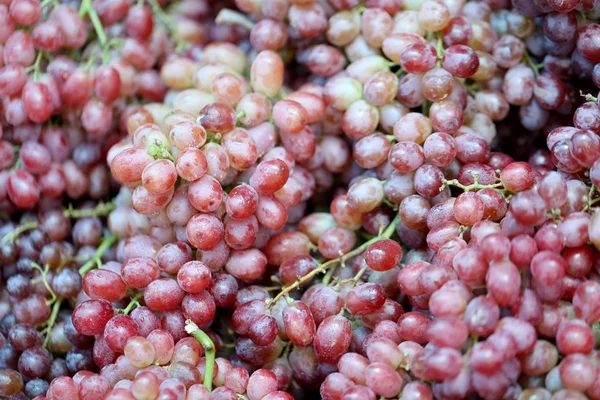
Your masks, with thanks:
<instances>
[{"instance_id":1,"label":"blurred pinkish-red grape cluster with green stem in top-left corner","mask_svg":"<svg viewBox=\"0 0 600 400\"><path fill-rule=\"evenodd\" d=\"M170 48L192 51L211 34L236 39L235 30L214 32L211 10L201 2L182 3L169 14L157 0L83 0L79 12L57 1L4 3L0 198L6 213L42 201L53 208L65 195L107 197L106 153L139 102L164 99L168 87L156 67Z\"/></svg>"}]
</instances>

